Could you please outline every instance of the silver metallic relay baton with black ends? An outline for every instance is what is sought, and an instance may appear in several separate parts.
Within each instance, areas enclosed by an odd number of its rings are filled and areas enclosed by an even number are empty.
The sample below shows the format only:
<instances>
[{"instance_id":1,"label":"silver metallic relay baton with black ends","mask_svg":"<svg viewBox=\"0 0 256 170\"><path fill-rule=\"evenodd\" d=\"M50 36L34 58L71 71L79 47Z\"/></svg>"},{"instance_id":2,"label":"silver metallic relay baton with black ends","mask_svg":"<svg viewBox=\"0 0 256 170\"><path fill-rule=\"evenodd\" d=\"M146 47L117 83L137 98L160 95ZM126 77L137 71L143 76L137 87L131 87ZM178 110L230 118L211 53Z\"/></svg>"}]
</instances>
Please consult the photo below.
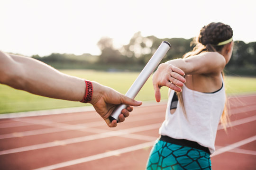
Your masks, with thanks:
<instances>
[{"instance_id":1,"label":"silver metallic relay baton with black ends","mask_svg":"<svg viewBox=\"0 0 256 170\"><path fill-rule=\"evenodd\" d=\"M127 97L134 99L137 95L137 93L140 91L142 86L146 83L146 80L149 78L149 76L153 73L155 68L158 66L160 61L164 58L167 51L170 49L171 44L169 42L163 41L158 49L155 51L154 55L151 57L151 59L147 62L146 66L143 68L143 70L138 75L137 79L133 82L127 93L125 94ZM112 122L113 120L119 121L119 115L121 114L121 111L125 109L127 105L120 104L116 107L116 109L111 113L109 119Z\"/></svg>"}]
</instances>

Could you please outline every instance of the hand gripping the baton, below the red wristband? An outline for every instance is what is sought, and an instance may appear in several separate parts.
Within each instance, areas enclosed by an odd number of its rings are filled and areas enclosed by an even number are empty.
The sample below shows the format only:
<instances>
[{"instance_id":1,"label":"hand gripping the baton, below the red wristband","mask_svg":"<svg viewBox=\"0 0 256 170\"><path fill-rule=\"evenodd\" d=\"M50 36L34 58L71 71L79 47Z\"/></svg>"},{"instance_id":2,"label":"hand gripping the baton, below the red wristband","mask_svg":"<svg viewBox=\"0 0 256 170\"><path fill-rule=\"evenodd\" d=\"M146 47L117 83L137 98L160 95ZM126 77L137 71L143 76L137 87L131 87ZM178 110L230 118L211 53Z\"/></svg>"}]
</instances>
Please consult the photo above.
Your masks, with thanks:
<instances>
[{"instance_id":1,"label":"hand gripping the baton, below the red wristband","mask_svg":"<svg viewBox=\"0 0 256 170\"><path fill-rule=\"evenodd\" d=\"M129 116L129 112L133 110L131 106L140 106L142 102L130 99L127 96L115 91L114 89L100 85L96 82L91 82L93 86L93 94L90 103L94 109L106 121L109 127L116 127L117 120L110 122L110 114L119 104L128 105L126 109L121 111L119 122L123 122Z\"/></svg>"}]
</instances>

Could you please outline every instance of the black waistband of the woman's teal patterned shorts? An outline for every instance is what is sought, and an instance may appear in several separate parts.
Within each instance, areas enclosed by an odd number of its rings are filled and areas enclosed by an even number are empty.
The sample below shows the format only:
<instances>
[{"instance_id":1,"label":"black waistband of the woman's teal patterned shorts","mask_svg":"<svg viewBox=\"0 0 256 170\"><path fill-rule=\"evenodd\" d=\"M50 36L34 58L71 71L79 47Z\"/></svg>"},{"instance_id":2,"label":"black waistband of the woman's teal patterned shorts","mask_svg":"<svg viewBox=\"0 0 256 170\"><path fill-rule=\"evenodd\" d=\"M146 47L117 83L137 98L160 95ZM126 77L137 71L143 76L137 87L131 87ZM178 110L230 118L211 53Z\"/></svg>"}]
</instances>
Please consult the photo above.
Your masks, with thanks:
<instances>
[{"instance_id":1,"label":"black waistband of the woman's teal patterned shorts","mask_svg":"<svg viewBox=\"0 0 256 170\"><path fill-rule=\"evenodd\" d=\"M163 136L163 135L161 135L159 140L168 142L168 143L172 143L172 144L177 144L177 145L187 146L187 147L191 147L191 148L195 148L195 149L200 149L200 150L210 154L210 150L208 147L204 147L194 141L190 141L190 140L186 140L186 139L174 139L172 137Z\"/></svg>"}]
</instances>

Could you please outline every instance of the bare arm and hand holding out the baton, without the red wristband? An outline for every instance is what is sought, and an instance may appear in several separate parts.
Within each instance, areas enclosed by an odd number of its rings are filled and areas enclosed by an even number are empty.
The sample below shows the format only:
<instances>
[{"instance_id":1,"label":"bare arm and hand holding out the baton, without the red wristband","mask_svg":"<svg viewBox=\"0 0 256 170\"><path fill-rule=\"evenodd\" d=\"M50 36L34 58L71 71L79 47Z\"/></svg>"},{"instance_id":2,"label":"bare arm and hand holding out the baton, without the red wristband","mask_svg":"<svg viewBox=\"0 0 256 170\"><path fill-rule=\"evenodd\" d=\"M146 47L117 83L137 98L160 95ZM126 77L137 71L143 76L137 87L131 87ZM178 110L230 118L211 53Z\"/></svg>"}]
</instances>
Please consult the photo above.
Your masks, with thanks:
<instances>
[{"instance_id":1,"label":"bare arm and hand holding out the baton, without the red wristband","mask_svg":"<svg viewBox=\"0 0 256 170\"><path fill-rule=\"evenodd\" d=\"M83 79L69 76L36 59L7 54L0 51L0 83L29 93L69 101L81 101L85 93ZM128 117L131 106L137 102L110 87L92 82L93 95L90 103L106 121L109 127L116 127L117 121L110 122L109 116L118 104L128 107L122 110L119 122Z\"/></svg>"}]
</instances>

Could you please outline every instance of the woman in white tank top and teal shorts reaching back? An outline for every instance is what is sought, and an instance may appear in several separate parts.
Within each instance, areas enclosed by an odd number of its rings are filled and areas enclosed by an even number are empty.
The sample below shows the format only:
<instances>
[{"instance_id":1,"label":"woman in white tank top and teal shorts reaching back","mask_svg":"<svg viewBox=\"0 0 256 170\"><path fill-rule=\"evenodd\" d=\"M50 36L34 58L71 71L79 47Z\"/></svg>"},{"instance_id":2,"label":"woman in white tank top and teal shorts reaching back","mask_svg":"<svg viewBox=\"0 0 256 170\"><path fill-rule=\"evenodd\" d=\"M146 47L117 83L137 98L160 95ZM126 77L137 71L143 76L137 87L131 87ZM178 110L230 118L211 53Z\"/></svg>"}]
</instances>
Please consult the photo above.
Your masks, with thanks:
<instances>
[{"instance_id":1,"label":"woman in white tank top and teal shorts reaching back","mask_svg":"<svg viewBox=\"0 0 256 170\"><path fill-rule=\"evenodd\" d=\"M147 170L211 169L219 120L224 127L228 121L222 71L232 55L232 36L230 26L210 23L183 59L157 68L153 75L156 101L160 102L162 86L173 90Z\"/></svg>"}]
</instances>

